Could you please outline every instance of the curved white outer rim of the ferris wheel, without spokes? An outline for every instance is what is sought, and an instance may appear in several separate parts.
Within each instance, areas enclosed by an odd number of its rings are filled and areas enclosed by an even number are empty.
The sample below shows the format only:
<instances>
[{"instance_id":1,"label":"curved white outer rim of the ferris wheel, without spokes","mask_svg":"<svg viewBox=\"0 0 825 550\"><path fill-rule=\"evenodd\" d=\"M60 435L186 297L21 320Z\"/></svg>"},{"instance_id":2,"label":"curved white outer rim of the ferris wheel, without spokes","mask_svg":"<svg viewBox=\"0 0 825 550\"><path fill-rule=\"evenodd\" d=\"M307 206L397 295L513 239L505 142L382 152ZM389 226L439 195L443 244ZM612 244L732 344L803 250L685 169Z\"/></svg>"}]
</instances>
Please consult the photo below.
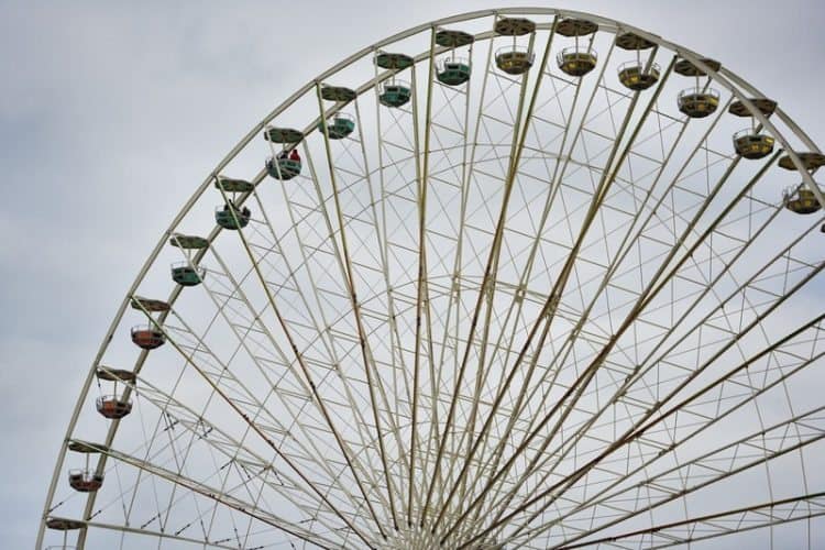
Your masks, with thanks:
<instances>
[{"instance_id":1,"label":"curved white outer rim of the ferris wheel, without spokes","mask_svg":"<svg viewBox=\"0 0 825 550\"><path fill-rule=\"evenodd\" d=\"M146 273L148 272L150 267L155 263L157 260L160 252L162 248L165 245L167 239L172 237L175 232L175 229L179 226L180 221L186 217L186 215L191 210L193 206L204 196L206 190L212 185L220 176L220 172L229 165L232 160L234 160L241 151L243 151L246 145L250 144L250 142L260 134L262 130L264 130L267 124L270 124L273 120L275 120L280 113L283 113L286 109L288 109L292 105L294 105L299 98L304 97L305 95L312 91L312 89L320 90L321 82L326 81L329 77L336 75L343 68L348 67L349 65L352 65L353 63L362 59L365 56L372 55L374 52L380 50L383 46L393 44L399 40L403 40L405 37L409 37L416 34L419 34L427 30L435 30L441 25L447 24L453 24L453 23L460 23L469 20L476 20L476 19L483 19L488 16L498 16L498 15L517 15L517 14L534 14L534 15L554 15L554 16L581 16L588 20L595 20L600 22L600 31L607 31L613 32L614 34L618 34L619 31L627 31L627 32L634 32L639 34L640 36L645 37L646 40L650 40L653 42L657 46L662 46L668 48L669 51L673 51L674 54L679 55L680 57L690 61L691 63L695 64L700 68L704 69L714 81L718 82L721 86L723 86L725 89L727 89L735 98L739 99L751 112L752 117L757 119L760 124L763 125L765 129L767 129L772 135L774 135L778 141L783 145L783 148L785 153L791 158L792 163L795 165L798 173L802 175L802 178L806 185L810 186L811 190L815 194L816 198L822 205L825 205L825 199L822 196L821 189L814 184L813 178L811 174L803 169L804 165L802 161L799 158L796 152L793 147L791 147L785 140L785 136L782 132L779 132L773 123L763 114L759 109L757 109L750 101L748 94L750 92L752 96L756 97L765 97L759 91L754 88L749 82L737 76L735 73L729 70L727 67L723 67L721 70L714 70L713 67L708 66L704 58L701 57L695 52L684 48L682 46L679 46L676 44L670 43L660 36L657 36L654 34L650 34L641 29L637 29L635 26L622 23L617 20L602 18L596 14L585 13L585 12L579 12L579 11L572 11L572 10L554 10L554 9L532 9L532 8L508 8L508 9L501 9L501 10L482 10L482 11L474 11L474 12L468 12L460 15L453 15L449 18L443 18L430 23L417 25L414 28L410 28L406 31L403 31L400 33L397 33L393 36L389 36L387 38L384 38L382 41L378 41L371 46L367 46L365 48L362 48L361 51L356 52L352 56L345 58L342 62L339 62L337 65L333 65L330 69L327 69L319 74L316 78L304 85L301 88L299 88L295 94L293 94L289 98L287 98L285 101L283 101L280 105L278 105L270 114L267 114L261 122L258 122L256 125L252 128L252 130L241 139L241 141L218 163L218 165L212 169L212 172L209 174L209 176L200 184L200 186L195 190L195 193L191 195L191 197L185 202L184 207L180 209L180 211L175 216L173 219L173 222L169 224L168 229L162 234L158 243L155 245L153 251L150 253L150 256L144 262L142 268L139 272L138 277L132 283L125 298L121 302L121 306L119 307L114 319L112 320L112 323L110 324L110 328L107 330L106 336L103 338L103 342L101 343L97 354L96 359L91 364L91 367L89 370L89 374L87 375L86 382L84 383L80 396L78 398L78 402L75 406L75 410L72 416L72 420L69 422L69 427L66 432L66 438L62 444L61 452L58 454L57 464L55 466L55 472L52 479L52 483L48 491L48 496L46 499L44 514L41 518L41 527L38 531L37 537L37 546L42 543L43 532L45 530L46 522L50 519L50 513L48 513L48 505L52 502L54 491L56 487L56 483L59 480L59 474L62 472L63 462L65 460L66 452L68 450L68 444L72 440L70 435L74 431L75 424L77 420L77 417L79 415L79 409L85 403L85 398L89 394L89 391L91 388L91 383L95 378L95 374L99 367L102 365L100 364L100 360L102 359L103 352L106 351L109 341L111 340L114 329L120 323L129 304L131 300L135 298L134 293L140 287L140 284L143 282L143 279L146 276ZM604 25L604 26L602 26ZM482 33L485 34L485 33ZM475 36L476 40L491 40L490 36L479 38L479 36ZM424 59L431 57L435 53L435 50L430 51L426 56L425 54L420 54L415 56L414 66L421 63ZM424 57L422 57L424 56ZM384 77L386 78L386 77ZM361 97L363 94L366 94L371 90L373 90L381 80L376 76L375 78L367 80L363 86L361 86L359 89L356 89L356 96ZM430 82L432 81L432 76L430 75ZM324 113L328 111L323 111ZM804 133L804 131L796 125L796 123L790 119L782 110L781 108L778 108L776 110L774 117L777 117L782 123L784 123L791 132L793 132L798 139L800 139L803 143L805 143L810 151L818 152L820 150L816 147L815 143ZM326 128L326 117L321 117L321 120L323 121L324 128ZM266 176L265 169L261 169L257 175L252 179L252 184L256 186L261 183ZM221 233L222 228L219 226L216 226L213 230L209 233L207 241L211 245L211 243L215 241L215 239ZM205 252L199 252L196 254L196 257L202 256ZM198 262L195 261L195 264L197 265ZM409 282L409 284L413 284L414 282ZM173 288L173 290L169 294L169 298L167 300L167 304L170 306L174 306L175 301L177 300L180 292L183 290L183 287L176 286ZM165 318L164 314L161 318ZM134 372L140 373L140 370L147 356L146 352L142 352L138 361L135 362ZM110 435L107 437L107 444L111 442L111 439L114 438L117 433L117 426L118 424L114 422L113 430L110 432ZM94 493L92 493L94 495ZM90 501L94 499L94 496L89 497Z\"/></svg>"}]
</instances>

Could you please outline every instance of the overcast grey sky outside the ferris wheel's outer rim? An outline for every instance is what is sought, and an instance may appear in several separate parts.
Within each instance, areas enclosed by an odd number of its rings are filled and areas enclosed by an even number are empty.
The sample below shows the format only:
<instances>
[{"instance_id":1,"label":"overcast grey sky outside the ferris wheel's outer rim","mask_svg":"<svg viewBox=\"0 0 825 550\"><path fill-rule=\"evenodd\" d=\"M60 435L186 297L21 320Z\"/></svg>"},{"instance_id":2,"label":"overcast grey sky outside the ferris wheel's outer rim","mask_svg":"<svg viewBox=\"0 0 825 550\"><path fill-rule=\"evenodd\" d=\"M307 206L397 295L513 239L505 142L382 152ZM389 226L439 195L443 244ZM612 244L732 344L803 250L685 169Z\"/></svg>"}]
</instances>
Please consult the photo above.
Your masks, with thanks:
<instances>
[{"instance_id":1,"label":"overcast grey sky outside the ferris wheel's outer rim","mask_svg":"<svg viewBox=\"0 0 825 550\"><path fill-rule=\"evenodd\" d=\"M162 231L227 151L365 45L521 4L0 0L0 547L31 548L100 339ZM825 144L818 1L547 6L718 58Z\"/></svg>"}]
</instances>

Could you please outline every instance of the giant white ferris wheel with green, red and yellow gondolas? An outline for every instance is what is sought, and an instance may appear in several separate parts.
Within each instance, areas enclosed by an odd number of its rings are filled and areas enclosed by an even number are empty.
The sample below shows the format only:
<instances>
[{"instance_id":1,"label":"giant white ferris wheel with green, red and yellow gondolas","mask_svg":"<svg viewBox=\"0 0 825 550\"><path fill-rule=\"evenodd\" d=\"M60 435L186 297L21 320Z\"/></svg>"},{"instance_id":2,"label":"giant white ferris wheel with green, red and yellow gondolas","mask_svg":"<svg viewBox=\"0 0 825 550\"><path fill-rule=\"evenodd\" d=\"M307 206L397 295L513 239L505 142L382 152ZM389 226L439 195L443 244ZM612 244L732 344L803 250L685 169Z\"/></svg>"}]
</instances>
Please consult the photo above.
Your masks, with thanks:
<instances>
[{"instance_id":1,"label":"giant white ferris wheel with green, red and yellow gondolas","mask_svg":"<svg viewBox=\"0 0 825 550\"><path fill-rule=\"evenodd\" d=\"M812 548L825 156L592 14L394 35L162 235L37 548Z\"/></svg>"}]
</instances>

